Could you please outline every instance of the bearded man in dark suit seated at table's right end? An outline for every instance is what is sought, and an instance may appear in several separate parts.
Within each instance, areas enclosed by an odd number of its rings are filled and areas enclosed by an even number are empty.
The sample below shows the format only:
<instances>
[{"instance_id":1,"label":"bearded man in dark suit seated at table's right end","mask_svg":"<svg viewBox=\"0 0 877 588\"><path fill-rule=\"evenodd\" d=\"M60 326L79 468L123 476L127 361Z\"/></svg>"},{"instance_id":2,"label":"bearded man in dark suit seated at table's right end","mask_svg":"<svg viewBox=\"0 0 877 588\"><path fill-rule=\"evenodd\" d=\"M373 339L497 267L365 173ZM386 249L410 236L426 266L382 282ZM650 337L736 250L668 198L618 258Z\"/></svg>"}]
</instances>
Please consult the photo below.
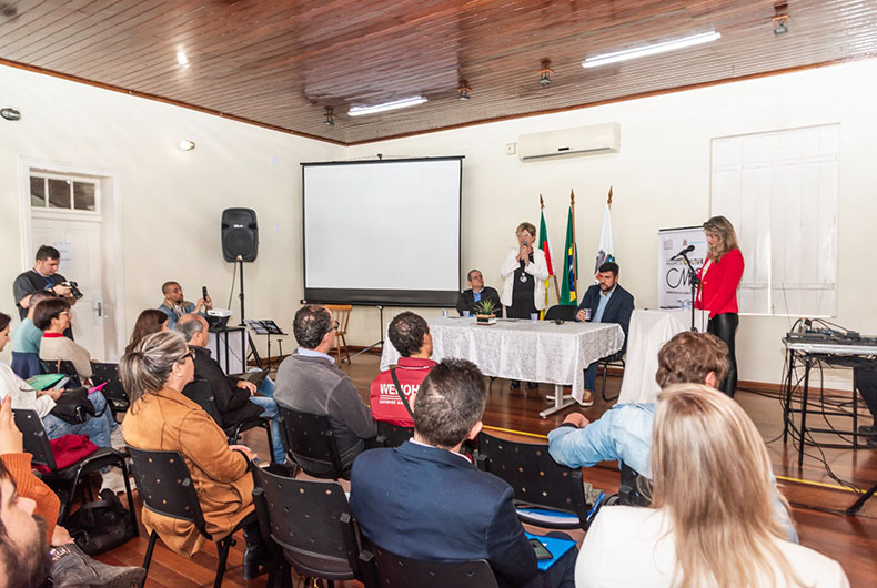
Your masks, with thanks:
<instances>
[{"instance_id":1,"label":"bearded man in dark suit seated at table's right end","mask_svg":"<svg viewBox=\"0 0 877 588\"><path fill-rule=\"evenodd\" d=\"M631 326L633 312L633 295L618 285L618 264L606 262L599 266L597 283L587 288L582 296L575 320L619 324L624 331L623 353L627 348L627 328ZM594 362L585 369L585 394L582 396L582 406L594 404L594 384L597 382L598 364L598 361Z\"/></svg>"}]
</instances>

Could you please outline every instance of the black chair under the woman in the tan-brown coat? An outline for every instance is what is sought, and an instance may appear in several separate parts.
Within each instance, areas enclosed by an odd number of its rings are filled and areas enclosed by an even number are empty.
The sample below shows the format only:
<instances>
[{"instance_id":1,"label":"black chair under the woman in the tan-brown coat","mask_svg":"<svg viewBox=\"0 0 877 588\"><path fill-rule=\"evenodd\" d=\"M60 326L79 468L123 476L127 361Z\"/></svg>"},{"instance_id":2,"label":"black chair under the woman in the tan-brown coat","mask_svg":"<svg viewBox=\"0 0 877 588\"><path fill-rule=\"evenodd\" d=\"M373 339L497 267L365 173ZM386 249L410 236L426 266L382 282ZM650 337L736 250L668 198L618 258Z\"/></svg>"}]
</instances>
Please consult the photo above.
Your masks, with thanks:
<instances>
[{"instance_id":1,"label":"black chair under the woman in the tan-brown coat","mask_svg":"<svg viewBox=\"0 0 877 588\"><path fill-rule=\"evenodd\" d=\"M201 503L198 501L198 493L183 456L178 452L151 452L130 446L128 450L131 453L131 468L134 472L140 499L143 500L143 508L165 517L188 520L194 524L205 539L216 543L219 562L213 588L220 588L222 577L225 575L229 549L236 543L232 536L244 526L246 519L239 523L225 537L214 539L206 530ZM143 558L143 569L147 574L158 538L159 535L154 530L149 536L149 546ZM145 582L145 576L143 581Z\"/></svg>"}]
</instances>

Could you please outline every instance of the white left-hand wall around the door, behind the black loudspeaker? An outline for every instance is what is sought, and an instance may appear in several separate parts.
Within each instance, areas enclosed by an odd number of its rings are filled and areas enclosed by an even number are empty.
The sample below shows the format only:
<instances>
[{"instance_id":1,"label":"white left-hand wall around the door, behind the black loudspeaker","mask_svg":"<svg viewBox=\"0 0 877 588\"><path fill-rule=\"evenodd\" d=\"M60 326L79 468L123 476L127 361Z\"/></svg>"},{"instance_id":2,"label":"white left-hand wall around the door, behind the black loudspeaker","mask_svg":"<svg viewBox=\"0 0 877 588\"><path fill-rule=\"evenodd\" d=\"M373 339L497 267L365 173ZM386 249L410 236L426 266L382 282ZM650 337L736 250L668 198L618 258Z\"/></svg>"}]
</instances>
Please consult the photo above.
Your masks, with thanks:
<instances>
[{"instance_id":1,"label":"white left-hand wall around the door, behind the black loudspeaker","mask_svg":"<svg viewBox=\"0 0 877 588\"><path fill-rule=\"evenodd\" d=\"M343 148L12 68L0 67L0 88L2 105L22 113L0 120L0 310L13 327L11 284L30 267L21 265L20 156L119 172L125 333L161 303L165 280L189 300L206 285L214 306L226 306L233 265L219 227L230 206L254 209L260 223L259 257L244 267L248 316L291 324L302 295L299 163L343 159ZM181 151L181 139L195 150ZM239 307L235 288L235 322Z\"/></svg>"}]
</instances>

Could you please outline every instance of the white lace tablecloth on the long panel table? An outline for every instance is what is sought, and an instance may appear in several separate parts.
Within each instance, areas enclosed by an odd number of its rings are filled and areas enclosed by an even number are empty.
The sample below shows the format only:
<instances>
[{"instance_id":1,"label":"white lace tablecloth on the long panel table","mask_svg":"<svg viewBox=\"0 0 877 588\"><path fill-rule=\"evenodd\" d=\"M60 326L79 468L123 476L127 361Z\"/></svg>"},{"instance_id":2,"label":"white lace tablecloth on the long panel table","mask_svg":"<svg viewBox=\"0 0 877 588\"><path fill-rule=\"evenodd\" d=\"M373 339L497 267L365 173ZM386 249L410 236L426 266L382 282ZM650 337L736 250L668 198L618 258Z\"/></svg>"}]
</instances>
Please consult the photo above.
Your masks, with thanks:
<instances>
[{"instance_id":1,"label":"white lace tablecloth on the long panel table","mask_svg":"<svg viewBox=\"0 0 877 588\"><path fill-rule=\"evenodd\" d=\"M614 324L497 320L476 325L475 318L431 318L433 356L470 359L487 376L572 385L581 401L584 369L592 362L622 348L624 332ZM399 352L384 337L381 369L399 361Z\"/></svg>"}]
</instances>

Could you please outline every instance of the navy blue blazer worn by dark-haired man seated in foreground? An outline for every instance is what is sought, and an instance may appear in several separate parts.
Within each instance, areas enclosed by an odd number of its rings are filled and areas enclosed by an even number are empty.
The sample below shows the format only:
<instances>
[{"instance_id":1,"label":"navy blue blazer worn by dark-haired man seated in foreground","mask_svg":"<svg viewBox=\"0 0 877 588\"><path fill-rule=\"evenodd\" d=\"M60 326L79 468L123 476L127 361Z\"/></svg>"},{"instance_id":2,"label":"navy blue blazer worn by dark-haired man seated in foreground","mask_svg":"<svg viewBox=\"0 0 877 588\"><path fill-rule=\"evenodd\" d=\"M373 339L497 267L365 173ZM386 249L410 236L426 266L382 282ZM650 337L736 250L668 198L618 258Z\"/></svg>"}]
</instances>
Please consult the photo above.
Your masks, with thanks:
<instances>
[{"instance_id":1,"label":"navy blue blazer worn by dark-haired man seated in foreground","mask_svg":"<svg viewBox=\"0 0 877 588\"><path fill-rule=\"evenodd\" d=\"M467 459L412 442L363 452L351 472L351 511L365 537L411 559L486 559L503 587L537 574L513 497Z\"/></svg>"}]
</instances>

